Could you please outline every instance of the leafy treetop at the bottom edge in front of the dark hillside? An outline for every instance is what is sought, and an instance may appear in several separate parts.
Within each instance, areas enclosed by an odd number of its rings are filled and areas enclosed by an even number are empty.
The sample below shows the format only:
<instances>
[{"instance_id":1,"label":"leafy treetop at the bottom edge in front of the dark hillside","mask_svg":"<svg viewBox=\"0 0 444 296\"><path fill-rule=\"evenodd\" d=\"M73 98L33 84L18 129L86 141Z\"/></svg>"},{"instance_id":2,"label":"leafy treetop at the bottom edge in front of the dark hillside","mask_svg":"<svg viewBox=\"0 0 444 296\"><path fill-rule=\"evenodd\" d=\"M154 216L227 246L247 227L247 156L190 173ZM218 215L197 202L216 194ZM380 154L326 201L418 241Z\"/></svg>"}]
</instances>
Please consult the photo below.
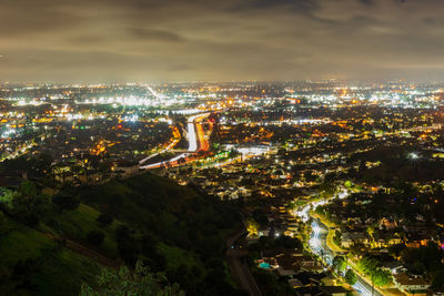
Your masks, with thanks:
<instances>
[{"instance_id":1,"label":"leafy treetop at the bottom edge in front of the dark hillside","mask_svg":"<svg viewBox=\"0 0 444 296\"><path fill-rule=\"evenodd\" d=\"M127 266L119 271L103 268L98 284L94 289L83 283L80 296L184 296L178 284L170 285L162 273L150 273L140 261L133 272Z\"/></svg>"}]
</instances>

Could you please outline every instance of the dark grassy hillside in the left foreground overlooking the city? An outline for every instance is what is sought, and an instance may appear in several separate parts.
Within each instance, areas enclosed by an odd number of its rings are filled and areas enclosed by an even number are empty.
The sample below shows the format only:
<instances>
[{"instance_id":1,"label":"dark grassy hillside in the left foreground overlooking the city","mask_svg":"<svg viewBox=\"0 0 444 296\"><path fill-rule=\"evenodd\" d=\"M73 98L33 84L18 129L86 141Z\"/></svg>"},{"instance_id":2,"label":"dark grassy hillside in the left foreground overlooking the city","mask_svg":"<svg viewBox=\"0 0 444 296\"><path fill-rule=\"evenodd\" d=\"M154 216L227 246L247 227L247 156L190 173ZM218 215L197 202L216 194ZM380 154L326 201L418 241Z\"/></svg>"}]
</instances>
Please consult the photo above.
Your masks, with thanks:
<instances>
[{"instance_id":1,"label":"dark grassy hillside in the left foreground overlooking the city","mask_svg":"<svg viewBox=\"0 0 444 296\"><path fill-rule=\"evenodd\" d=\"M186 295L242 294L224 257L240 221L230 205L151 174L57 194L37 187L49 202L36 218L2 205L0 295L78 295L101 267L138 259Z\"/></svg>"}]
</instances>

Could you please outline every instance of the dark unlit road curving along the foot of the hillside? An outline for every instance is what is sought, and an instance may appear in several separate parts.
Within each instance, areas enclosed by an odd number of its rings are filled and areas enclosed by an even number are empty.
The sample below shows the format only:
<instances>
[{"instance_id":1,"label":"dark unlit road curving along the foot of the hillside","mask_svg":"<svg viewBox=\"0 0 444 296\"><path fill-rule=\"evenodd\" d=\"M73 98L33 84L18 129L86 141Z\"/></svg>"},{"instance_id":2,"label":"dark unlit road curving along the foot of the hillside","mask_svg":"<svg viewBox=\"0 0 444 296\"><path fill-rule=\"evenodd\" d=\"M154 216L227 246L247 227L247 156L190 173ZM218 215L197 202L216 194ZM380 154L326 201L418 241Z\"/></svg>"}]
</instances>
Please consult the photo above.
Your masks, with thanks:
<instances>
[{"instance_id":1,"label":"dark unlit road curving along the foot of the hillside","mask_svg":"<svg viewBox=\"0 0 444 296\"><path fill-rule=\"evenodd\" d=\"M242 231L238 232L229 239L226 239L226 258L230 265L231 274L236 279L238 284L251 296L261 296L262 292L258 286L256 280L254 279L253 275L250 272L250 268L242 258L240 245L238 241L242 237L245 237L248 234L246 229L243 228Z\"/></svg>"}]
</instances>

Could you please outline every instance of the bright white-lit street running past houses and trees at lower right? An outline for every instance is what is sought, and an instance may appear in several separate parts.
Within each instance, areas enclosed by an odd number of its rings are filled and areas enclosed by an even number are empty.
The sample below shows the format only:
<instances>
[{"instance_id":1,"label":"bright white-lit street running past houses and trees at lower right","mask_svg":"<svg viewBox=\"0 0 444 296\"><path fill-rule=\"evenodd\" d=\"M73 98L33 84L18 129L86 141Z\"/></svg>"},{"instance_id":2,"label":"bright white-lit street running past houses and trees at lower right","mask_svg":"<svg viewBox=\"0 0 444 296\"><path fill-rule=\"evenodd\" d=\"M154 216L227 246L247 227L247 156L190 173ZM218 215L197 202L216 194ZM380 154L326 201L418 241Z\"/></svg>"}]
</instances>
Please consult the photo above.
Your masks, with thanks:
<instances>
[{"instance_id":1,"label":"bright white-lit street running past houses and trees at lower right","mask_svg":"<svg viewBox=\"0 0 444 296\"><path fill-rule=\"evenodd\" d=\"M329 233L329 228L319 220L313 220L312 222L312 235L309 241L309 246L313 251L313 253L321 256L324 262L330 266L333 262L334 256L336 255L334 251L332 251L326 244L326 235ZM353 285L361 295L365 296L382 296L376 289L372 294L372 286L365 282L360 275L356 274L357 282Z\"/></svg>"}]
</instances>

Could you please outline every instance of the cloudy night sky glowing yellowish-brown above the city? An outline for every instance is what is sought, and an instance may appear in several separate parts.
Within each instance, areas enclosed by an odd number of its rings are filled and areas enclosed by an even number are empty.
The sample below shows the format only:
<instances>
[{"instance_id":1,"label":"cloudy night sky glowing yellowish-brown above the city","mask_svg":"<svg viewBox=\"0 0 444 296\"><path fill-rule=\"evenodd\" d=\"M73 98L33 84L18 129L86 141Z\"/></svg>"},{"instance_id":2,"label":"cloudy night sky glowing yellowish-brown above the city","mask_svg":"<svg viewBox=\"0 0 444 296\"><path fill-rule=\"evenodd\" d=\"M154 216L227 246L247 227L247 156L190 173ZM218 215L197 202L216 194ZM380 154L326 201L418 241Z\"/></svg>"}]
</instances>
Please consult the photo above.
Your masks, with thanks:
<instances>
[{"instance_id":1,"label":"cloudy night sky glowing yellowish-brown above the city","mask_svg":"<svg viewBox=\"0 0 444 296\"><path fill-rule=\"evenodd\" d=\"M1 0L0 80L444 80L444 0Z\"/></svg>"}]
</instances>

